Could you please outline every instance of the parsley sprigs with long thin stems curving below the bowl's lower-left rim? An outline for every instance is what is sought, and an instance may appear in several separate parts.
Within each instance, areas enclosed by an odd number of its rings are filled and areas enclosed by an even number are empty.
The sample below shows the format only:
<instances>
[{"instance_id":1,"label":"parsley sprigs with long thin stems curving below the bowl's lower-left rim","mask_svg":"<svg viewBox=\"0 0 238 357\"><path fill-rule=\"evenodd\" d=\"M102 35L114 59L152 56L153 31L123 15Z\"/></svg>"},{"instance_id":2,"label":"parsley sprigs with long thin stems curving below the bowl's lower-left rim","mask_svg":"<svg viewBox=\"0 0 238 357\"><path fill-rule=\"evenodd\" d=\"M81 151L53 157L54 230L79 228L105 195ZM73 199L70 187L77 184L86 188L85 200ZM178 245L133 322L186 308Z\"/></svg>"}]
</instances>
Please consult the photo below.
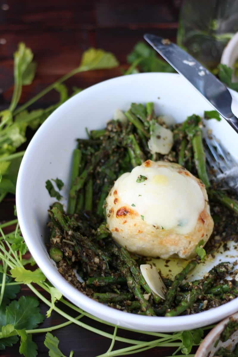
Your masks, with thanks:
<instances>
[{"instance_id":1,"label":"parsley sprigs with long thin stems curving below the bowl's lower-left rim","mask_svg":"<svg viewBox=\"0 0 238 357\"><path fill-rule=\"evenodd\" d=\"M14 223L16 224L15 231L5 235L3 231L4 228ZM19 352L25 357L35 357L37 356L37 345L34 342L34 334L45 333L44 343L49 349L49 355L58 357L64 356L58 347L60 341L51 332L73 323L76 326L86 328L91 332L111 340L110 348L97 357L112 357L123 354L130 355L159 346L172 346L177 348L176 353L181 352L186 354L187 357L193 356L190 355L192 346L199 345L203 336L203 330L201 328L173 334L136 331L138 333L138 340L120 337L117 335L118 326L106 323L81 310L69 301L66 301L62 297L62 294L46 280L46 277L38 267L34 270L26 268L27 264L30 265L29 263L32 263L32 258L26 259L22 254L26 252L27 248L23 237L20 235L17 220L0 225L0 234L0 259L2 260L0 271L0 350L4 350L5 347L12 346L20 340ZM21 286L24 284L34 292L35 296L21 296L17 300L17 293L19 293ZM41 289L38 289L37 286ZM45 291L48 298L39 290ZM46 312L46 317L40 312L39 301L42 301L49 307L49 310ZM70 307L72 311L77 312L78 315L73 317L64 312L64 310L61 310L55 305L56 301L60 301L63 305ZM52 310L65 317L66 322L56 326L41 328L40 324L45 318L50 317ZM84 316L90 318L90 325L82 321ZM114 332L108 333L95 328L94 321L101 322L103 325L112 326ZM132 331L130 329L122 329ZM153 336L153 340L143 341L141 339L142 334ZM116 341L126 343L127 346L114 349ZM69 356L73 356L73 351L70 352Z\"/></svg>"}]
</instances>

